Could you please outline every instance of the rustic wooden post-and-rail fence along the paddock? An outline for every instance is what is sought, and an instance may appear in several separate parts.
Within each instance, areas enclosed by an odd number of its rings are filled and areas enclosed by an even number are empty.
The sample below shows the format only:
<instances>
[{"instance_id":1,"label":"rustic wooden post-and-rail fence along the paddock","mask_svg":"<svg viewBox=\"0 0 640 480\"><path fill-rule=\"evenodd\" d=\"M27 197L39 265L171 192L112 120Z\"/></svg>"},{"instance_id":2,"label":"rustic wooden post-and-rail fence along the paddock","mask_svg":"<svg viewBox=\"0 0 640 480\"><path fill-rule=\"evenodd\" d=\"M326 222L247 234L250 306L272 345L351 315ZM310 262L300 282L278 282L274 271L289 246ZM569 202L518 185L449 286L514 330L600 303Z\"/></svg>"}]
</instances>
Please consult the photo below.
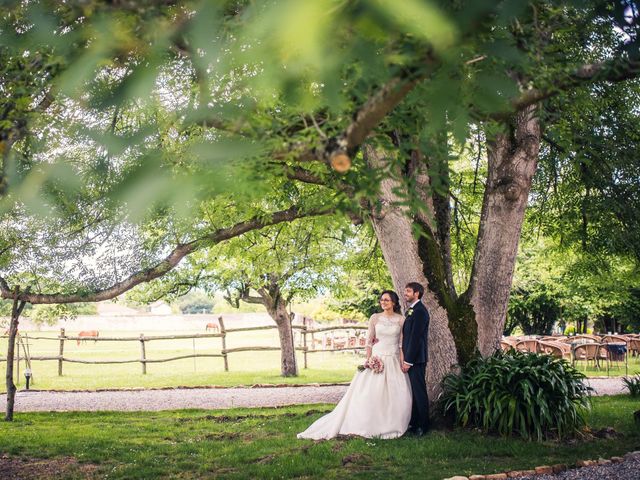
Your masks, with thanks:
<instances>
[{"instance_id":1,"label":"rustic wooden post-and-rail fence along the paddock","mask_svg":"<svg viewBox=\"0 0 640 480\"><path fill-rule=\"evenodd\" d=\"M116 364L116 363L140 363L142 366L142 373L147 373L147 364L148 363L164 363L171 362L175 360L182 360L186 358L222 358L224 362L224 371L229 371L229 354L237 353L237 352L259 352L259 351L271 351L271 350L280 350L280 347L275 346L248 346L248 347L237 347L237 348L227 348L227 335L230 333L237 332L249 332L249 331L257 331L257 330L273 330L278 327L275 325L266 325L262 327L242 327L242 328L225 328L224 321L222 317L218 318L218 322L220 323L220 333L194 333L194 334L186 334L186 335L145 335L141 333L137 337L76 337L76 336L67 336L65 334L65 329L60 329L60 335L58 337L37 337L37 336L28 336L23 335L22 339L24 341L28 340L53 340L59 342L59 350L58 355L55 356L30 356L26 349L23 350L24 354L22 355L22 359L27 362L31 361L57 361L58 362L58 375L62 376L62 367L64 362L69 363L85 363L85 364ZM340 330L353 330L354 332L359 332L361 330L366 330L367 327L359 326L359 325L340 325L333 327L322 327L322 328L309 328L306 325L292 325L292 328L298 330L300 332L302 338L302 345L299 347L294 347L295 350L301 351L304 358L304 368L308 368L308 360L307 355L310 353L316 352L339 352L339 351L357 351L365 348L364 336L355 335L349 336L344 339L341 339L339 342L334 338L331 339L330 342L326 342L326 338L322 341L323 347L327 347L329 344L331 348L316 348L317 343L319 342L316 339L316 334L323 333L326 335L328 332L335 332ZM308 337L311 337L311 342L309 346ZM3 335L6 337L6 335ZM179 355L176 357L169 358L157 358L150 359L147 358L146 353L146 343L152 342L156 340L184 340L184 339L196 339L196 338L220 338L221 339L221 350L220 353L193 353L189 355ZM354 341L355 339L355 341ZM67 358L64 356L64 346L67 341L94 341L94 342L140 342L140 358L130 359L130 360L80 360L74 358ZM22 342L23 343L23 342ZM21 360L20 355L20 344L16 349L16 359L18 361L18 365ZM0 362L6 361L5 358L0 358ZM19 368L19 366L18 366Z\"/></svg>"}]
</instances>

